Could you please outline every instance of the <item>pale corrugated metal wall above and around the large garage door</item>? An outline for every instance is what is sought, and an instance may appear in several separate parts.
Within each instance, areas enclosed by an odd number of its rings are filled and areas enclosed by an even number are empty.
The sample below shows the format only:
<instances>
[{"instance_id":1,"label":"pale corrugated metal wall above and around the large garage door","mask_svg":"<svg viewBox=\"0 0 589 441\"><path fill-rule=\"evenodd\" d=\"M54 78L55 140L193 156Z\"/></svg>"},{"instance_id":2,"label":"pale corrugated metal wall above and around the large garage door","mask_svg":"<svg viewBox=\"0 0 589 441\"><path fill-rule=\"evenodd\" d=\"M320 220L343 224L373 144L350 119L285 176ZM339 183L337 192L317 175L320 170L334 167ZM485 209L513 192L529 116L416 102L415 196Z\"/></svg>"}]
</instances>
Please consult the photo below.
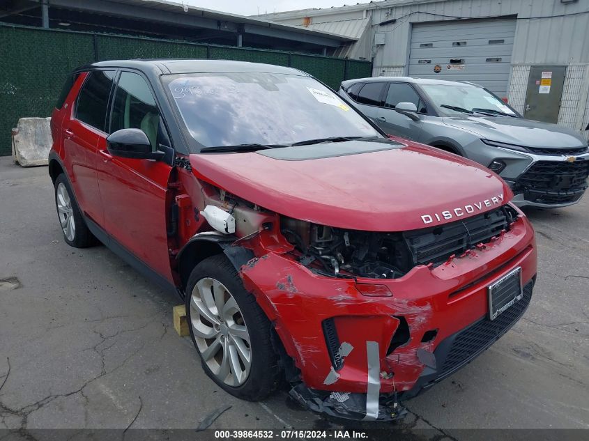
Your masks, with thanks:
<instances>
[{"instance_id":1,"label":"pale corrugated metal wall above and around the large garage door","mask_svg":"<svg viewBox=\"0 0 589 441\"><path fill-rule=\"evenodd\" d=\"M517 17L512 63L589 63L589 1L442 0L383 1L368 8L373 31L385 33L374 65L405 65L411 24L457 20L457 17ZM567 15L566 17L554 17ZM530 18L546 17L546 18ZM395 22L385 24L395 19Z\"/></svg>"}]
</instances>

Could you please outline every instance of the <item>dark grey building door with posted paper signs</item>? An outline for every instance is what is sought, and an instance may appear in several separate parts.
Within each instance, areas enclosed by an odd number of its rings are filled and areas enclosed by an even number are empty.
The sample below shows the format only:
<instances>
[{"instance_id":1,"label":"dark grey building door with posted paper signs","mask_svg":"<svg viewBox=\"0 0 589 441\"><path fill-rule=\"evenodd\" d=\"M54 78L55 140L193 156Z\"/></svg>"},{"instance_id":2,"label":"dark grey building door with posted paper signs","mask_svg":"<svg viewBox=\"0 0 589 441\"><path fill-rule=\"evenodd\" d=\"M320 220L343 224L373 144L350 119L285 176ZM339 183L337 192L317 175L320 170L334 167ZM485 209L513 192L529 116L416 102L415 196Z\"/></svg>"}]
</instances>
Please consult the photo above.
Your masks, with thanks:
<instances>
[{"instance_id":1,"label":"dark grey building door with posted paper signs","mask_svg":"<svg viewBox=\"0 0 589 441\"><path fill-rule=\"evenodd\" d=\"M563 97L566 66L532 66L528 77L523 116L544 123L557 123Z\"/></svg>"}]
</instances>

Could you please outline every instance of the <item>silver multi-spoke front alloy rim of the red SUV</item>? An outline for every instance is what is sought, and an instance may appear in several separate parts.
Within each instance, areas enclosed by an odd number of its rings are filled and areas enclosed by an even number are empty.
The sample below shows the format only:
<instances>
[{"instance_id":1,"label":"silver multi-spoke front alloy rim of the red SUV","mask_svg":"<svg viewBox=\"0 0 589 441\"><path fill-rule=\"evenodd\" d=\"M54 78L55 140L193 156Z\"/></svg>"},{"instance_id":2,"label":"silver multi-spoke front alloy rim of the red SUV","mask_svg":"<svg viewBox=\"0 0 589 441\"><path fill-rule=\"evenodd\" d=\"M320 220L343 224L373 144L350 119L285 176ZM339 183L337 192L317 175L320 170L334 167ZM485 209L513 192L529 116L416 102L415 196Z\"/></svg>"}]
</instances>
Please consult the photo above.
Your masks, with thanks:
<instances>
[{"instance_id":1,"label":"silver multi-spoke front alloy rim of the red SUV","mask_svg":"<svg viewBox=\"0 0 589 441\"><path fill-rule=\"evenodd\" d=\"M220 281L197 281L190 297L190 321L208 369L226 385L243 385L252 365L250 334L235 298Z\"/></svg>"}]
</instances>

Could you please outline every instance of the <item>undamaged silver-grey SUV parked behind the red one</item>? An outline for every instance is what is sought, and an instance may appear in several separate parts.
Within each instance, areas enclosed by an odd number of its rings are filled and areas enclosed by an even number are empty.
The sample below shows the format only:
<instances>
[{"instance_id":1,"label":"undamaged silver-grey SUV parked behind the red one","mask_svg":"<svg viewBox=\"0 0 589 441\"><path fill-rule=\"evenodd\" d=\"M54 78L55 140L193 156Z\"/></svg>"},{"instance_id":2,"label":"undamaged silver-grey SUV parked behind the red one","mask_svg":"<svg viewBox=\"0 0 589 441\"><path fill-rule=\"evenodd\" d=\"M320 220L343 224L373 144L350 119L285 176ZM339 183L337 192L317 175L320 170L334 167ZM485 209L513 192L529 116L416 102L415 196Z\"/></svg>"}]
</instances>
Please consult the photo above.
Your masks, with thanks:
<instances>
[{"instance_id":1,"label":"undamaged silver-grey SUV parked behind the red one","mask_svg":"<svg viewBox=\"0 0 589 441\"><path fill-rule=\"evenodd\" d=\"M569 206L588 187L585 139L524 119L476 84L375 77L345 81L339 94L388 134L489 167L512 187L518 206Z\"/></svg>"}]
</instances>

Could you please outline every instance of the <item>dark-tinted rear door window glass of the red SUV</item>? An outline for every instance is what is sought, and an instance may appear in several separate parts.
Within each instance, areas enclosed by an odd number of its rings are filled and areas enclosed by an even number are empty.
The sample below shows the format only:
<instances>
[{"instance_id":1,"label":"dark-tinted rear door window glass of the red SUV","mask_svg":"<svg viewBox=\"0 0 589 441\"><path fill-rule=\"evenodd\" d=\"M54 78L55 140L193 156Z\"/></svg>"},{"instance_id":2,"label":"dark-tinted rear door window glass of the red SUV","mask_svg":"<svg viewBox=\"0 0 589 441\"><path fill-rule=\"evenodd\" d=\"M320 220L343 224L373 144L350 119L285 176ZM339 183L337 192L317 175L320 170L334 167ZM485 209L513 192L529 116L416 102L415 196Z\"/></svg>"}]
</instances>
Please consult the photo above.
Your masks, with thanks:
<instances>
[{"instance_id":1,"label":"dark-tinted rear door window glass of the red SUV","mask_svg":"<svg viewBox=\"0 0 589 441\"><path fill-rule=\"evenodd\" d=\"M114 74L114 70L90 72L77 99L76 118L102 132L106 132L107 107Z\"/></svg>"}]
</instances>

